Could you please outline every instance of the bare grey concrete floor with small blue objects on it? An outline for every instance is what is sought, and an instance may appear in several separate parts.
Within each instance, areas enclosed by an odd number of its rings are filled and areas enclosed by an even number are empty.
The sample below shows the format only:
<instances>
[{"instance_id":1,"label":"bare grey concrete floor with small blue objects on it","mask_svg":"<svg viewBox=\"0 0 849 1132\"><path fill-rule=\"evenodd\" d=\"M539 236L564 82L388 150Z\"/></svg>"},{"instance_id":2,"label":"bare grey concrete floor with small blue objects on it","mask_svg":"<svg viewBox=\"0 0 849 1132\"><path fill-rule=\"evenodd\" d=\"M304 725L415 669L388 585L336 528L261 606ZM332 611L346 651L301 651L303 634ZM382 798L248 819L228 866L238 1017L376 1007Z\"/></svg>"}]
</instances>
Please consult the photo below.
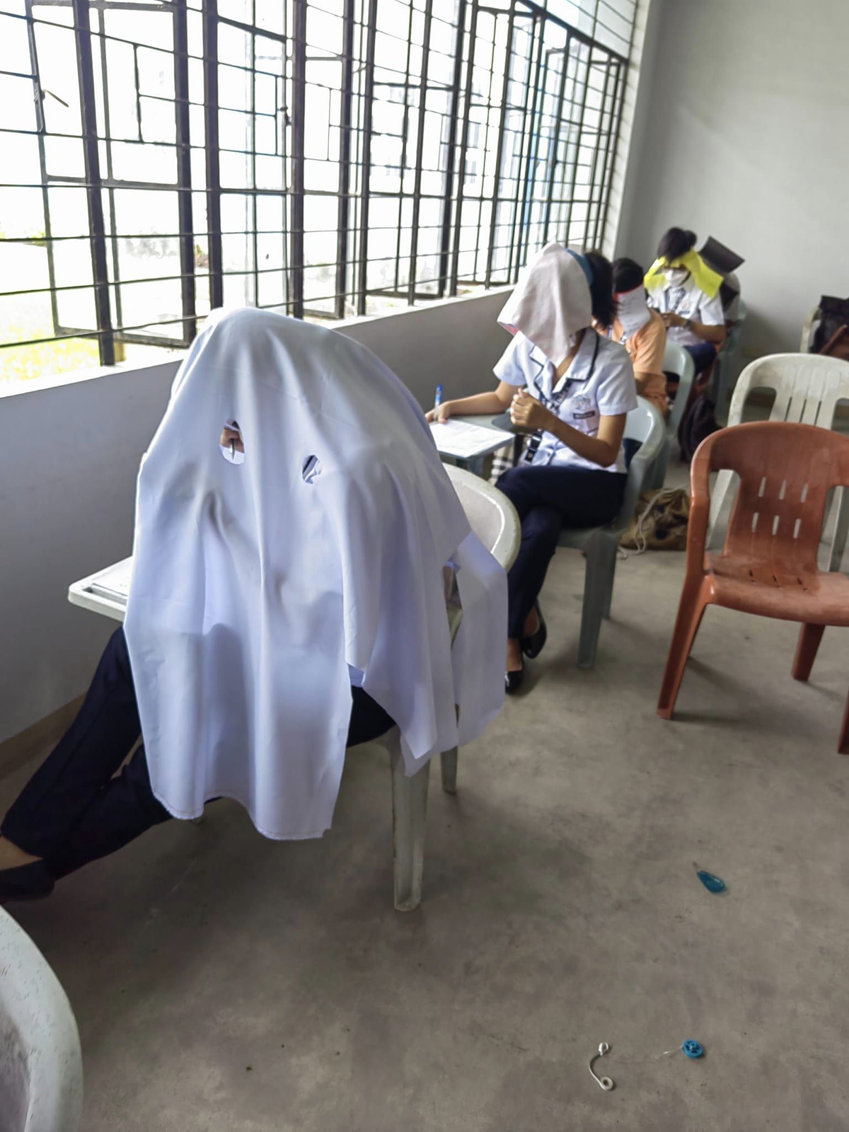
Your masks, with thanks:
<instances>
[{"instance_id":1,"label":"bare grey concrete floor with small blue objects on it","mask_svg":"<svg viewBox=\"0 0 849 1132\"><path fill-rule=\"evenodd\" d=\"M321 841L221 803L12 906L77 1014L85 1132L849 1129L849 634L801 685L795 626L709 610L663 722L683 566L619 563L585 672L558 554L528 694L457 797L432 777L419 911L392 909L375 748ZM702 1061L664 1056L685 1038Z\"/></svg>"}]
</instances>

